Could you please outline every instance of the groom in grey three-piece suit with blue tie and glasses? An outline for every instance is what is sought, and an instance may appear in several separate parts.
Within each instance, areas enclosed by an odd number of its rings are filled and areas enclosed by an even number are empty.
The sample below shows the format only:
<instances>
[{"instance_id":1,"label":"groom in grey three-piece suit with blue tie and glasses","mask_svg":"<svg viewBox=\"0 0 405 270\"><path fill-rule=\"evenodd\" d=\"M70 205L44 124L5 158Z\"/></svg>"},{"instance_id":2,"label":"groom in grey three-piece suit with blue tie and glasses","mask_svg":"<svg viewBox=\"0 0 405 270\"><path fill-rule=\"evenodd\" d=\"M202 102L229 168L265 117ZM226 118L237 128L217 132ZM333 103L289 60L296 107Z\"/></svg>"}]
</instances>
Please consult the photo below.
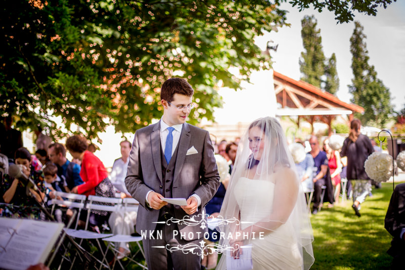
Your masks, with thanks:
<instances>
[{"instance_id":1,"label":"groom in grey three-piece suit with blue tie and glasses","mask_svg":"<svg viewBox=\"0 0 405 270\"><path fill-rule=\"evenodd\" d=\"M135 133L125 184L142 206L136 230L147 232L142 243L148 269L200 269L200 256L169 251L200 246L206 228L198 221L219 186L209 132L186 123L194 107L193 93L184 79L167 80L160 91L163 117ZM168 204L163 198L185 198L187 205ZM167 222L187 216L197 222Z\"/></svg>"}]
</instances>

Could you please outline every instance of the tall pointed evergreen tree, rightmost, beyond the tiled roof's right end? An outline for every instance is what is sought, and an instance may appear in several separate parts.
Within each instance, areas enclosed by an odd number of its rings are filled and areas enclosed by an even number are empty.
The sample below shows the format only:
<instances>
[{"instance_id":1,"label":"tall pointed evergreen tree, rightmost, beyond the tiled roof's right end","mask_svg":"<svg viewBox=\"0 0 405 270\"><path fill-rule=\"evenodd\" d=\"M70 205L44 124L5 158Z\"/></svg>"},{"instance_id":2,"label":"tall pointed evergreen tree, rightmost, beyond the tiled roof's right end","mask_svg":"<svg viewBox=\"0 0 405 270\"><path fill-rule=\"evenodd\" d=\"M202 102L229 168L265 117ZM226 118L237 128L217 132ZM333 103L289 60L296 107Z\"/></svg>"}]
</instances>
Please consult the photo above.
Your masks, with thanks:
<instances>
[{"instance_id":1,"label":"tall pointed evergreen tree, rightmost, beyond the tiled roof's right end","mask_svg":"<svg viewBox=\"0 0 405 270\"><path fill-rule=\"evenodd\" d=\"M353 95L351 101L365 108L365 112L356 115L363 125L384 127L393 112L389 89L377 78L377 71L369 65L369 55L366 35L363 26L354 22L354 31L350 37L350 52L352 54L352 85L349 92Z\"/></svg>"}]
</instances>

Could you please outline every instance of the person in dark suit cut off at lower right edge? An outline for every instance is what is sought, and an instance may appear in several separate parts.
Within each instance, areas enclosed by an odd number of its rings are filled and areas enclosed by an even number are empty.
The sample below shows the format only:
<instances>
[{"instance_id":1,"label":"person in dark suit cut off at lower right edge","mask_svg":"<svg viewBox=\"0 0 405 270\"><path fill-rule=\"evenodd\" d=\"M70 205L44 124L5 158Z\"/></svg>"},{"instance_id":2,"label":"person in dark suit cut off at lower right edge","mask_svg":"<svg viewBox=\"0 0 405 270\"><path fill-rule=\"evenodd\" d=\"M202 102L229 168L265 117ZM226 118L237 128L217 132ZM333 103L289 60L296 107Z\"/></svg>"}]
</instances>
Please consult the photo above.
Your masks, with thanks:
<instances>
[{"instance_id":1,"label":"person in dark suit cut off at lower right edge","mask_svg":"<svg viewBox=\"0 0 405 270\"><path fill-rule=\"evenodd\" d=\"M392 269L405 265L405 183L398 184L391 196L384 227L393 236L387 253L393 257Z\"/></svg>"}]
</instances>

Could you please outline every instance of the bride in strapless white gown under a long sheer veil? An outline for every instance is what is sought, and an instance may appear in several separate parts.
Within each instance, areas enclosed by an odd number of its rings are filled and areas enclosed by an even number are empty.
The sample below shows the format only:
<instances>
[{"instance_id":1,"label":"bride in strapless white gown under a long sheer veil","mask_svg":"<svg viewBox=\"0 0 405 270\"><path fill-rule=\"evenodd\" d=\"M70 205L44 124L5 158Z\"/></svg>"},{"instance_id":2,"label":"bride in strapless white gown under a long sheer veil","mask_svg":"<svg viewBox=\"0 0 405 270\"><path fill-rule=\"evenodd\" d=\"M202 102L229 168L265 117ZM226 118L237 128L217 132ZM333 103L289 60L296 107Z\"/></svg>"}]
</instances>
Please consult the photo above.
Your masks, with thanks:
<instances>
[{"instance_id":1,"label":"bride in strapless white gown under a long sheer veil","mask_svg":"<svg viewBox=\"0 0 405 270\"><path fill-rule=\"evenodd\" d=\"M250 124L242 136L224 202L219 246L252 245L253 269L309 269L314 262L312 227L286 137L275 118ZM238 223L238 224L236 224ZM232 236L232 237L229 237ZM226 269L224 254L217 269Z\"/></svg>"}]
</instances>

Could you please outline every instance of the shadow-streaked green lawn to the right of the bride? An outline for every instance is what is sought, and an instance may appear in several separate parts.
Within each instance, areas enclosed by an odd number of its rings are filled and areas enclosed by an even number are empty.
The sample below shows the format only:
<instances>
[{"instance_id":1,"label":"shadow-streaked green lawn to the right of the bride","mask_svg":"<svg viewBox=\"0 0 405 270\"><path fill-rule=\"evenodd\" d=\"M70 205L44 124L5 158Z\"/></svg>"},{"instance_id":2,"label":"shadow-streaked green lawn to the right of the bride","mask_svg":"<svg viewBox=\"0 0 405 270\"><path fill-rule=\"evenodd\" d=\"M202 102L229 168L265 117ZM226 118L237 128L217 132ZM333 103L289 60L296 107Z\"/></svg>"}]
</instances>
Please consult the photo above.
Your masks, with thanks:
<instances>
[{"instance_id":1,"label":"shadow-streaked green lawn to the right of the bride","mask_svg":"<svg viewBox=\"0 0 405 270\"><path fill-rule=\"evenodd\" d=\"M391 194L390 183L374 189L361 204L360 218L354 215L352 201L324 207L311 216L315 256L311 269L389 269L392 258L386 251L391 236L384 218Z\"/></svg>"}]
</instances>

